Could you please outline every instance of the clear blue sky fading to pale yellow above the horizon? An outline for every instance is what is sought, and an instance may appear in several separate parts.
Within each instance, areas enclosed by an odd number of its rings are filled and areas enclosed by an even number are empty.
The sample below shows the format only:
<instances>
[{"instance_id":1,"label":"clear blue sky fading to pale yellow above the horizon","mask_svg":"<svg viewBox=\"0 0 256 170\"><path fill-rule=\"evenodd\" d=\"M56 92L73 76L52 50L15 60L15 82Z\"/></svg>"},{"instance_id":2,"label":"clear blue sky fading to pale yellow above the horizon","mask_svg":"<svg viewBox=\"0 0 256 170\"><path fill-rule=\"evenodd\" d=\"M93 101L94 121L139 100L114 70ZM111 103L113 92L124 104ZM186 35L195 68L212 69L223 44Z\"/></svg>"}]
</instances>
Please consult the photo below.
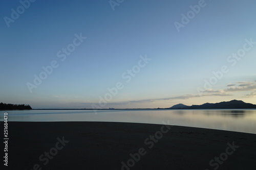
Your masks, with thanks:
<instances>
[{"instance_id":1,"label":"clear blue sky fading to pale yellow above the horizon","mask_svg":"<svg viewBox=\"0 0 256 170\"><path fill-rule=\"evenodd\" d=\"M0 102L256 104L256 2L0 1Z\"/></svg>"}]
</instances>

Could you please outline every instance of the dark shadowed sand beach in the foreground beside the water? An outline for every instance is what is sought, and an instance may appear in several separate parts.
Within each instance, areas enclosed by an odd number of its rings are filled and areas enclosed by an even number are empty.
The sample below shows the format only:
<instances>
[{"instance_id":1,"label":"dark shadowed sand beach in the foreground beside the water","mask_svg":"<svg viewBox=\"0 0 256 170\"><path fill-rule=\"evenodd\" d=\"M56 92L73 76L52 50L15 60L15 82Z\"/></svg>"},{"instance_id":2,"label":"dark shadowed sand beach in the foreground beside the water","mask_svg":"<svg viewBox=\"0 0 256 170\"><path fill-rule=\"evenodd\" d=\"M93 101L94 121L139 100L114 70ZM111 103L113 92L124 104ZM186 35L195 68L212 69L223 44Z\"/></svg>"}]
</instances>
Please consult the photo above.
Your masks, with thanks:
<instances>
[{"instance_id":1,"label":"dark shadowed sand beach in the foreground beside the water","mask_svg":"<svg viewBox=\"0 0 256 170\"><path fill-rule=\"evenodd\" d=\"M162 138L159 136L158 142L146 144L144 140L160 131L163 125L103 122L8 124L9 160L8 168L4 169L121 169L121 162L126 163L131 159L130 153L138 153L140 148L145 149L145 155L140 156L130 169L214 169L217 163L214 161L212 163L216 164L210 166L210 160L225 153L227 143L233 141L239 148L225 161L220 159L222 164L219 163L218 169L256 169L255 134L173 126ZM162 130L166 131L167 127ZM57 137L62 139L63 136L69 142L44 165L46 160L40 161L39 156L55 148ZM150 149L152 143L154 146ZM227 151L231 153L232 150ZM222 156L225 158L225 154Z\"/></svg>"}]
</instances>

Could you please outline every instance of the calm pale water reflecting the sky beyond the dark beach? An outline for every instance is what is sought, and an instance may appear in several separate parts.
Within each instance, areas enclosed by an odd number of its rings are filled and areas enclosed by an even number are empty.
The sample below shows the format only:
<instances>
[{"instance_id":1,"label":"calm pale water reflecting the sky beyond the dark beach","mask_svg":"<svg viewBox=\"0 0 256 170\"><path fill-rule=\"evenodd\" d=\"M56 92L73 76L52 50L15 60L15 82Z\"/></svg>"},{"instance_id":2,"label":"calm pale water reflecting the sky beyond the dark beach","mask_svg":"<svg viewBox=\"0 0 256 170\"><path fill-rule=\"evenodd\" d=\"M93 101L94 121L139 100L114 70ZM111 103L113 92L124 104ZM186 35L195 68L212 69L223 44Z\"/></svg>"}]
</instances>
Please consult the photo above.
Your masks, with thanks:
<instances>
[{"instance_id":1,"label":"calm pale water reflecting the sky beyond the dark beach","mask_svg":"<svg viewBox=\"0 0 256 170\"><path fill-rule=\"evenodd\" d=\"M9 122L131 122L219 129L256 134L256 110L13 110Z\"/></svg>"}]
</instances>

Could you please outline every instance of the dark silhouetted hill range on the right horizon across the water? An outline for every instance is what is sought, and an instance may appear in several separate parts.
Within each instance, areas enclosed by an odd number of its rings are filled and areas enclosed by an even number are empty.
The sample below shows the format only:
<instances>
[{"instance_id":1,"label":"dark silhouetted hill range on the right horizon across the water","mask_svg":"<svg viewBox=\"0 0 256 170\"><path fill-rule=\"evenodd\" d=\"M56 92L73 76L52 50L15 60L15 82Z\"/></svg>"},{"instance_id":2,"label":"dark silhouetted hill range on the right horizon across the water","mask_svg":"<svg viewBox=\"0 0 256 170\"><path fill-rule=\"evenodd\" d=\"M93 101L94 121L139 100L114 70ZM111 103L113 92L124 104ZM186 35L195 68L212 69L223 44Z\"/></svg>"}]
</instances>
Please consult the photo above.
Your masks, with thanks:
<instances>
[{"instance_id":1,"label":"dark silhouetted hill range on the right horizon across the water","mask_svg":"<svg viewBox=\"0 0 256 170\"><path fill-rule=\"evenodd\" d=\"M174 105L170 109L256 109L256 105L243 101L232 100L220 103L205 103L202 105L186 106L183 104Z\"/></svg>"}]
</instances>

